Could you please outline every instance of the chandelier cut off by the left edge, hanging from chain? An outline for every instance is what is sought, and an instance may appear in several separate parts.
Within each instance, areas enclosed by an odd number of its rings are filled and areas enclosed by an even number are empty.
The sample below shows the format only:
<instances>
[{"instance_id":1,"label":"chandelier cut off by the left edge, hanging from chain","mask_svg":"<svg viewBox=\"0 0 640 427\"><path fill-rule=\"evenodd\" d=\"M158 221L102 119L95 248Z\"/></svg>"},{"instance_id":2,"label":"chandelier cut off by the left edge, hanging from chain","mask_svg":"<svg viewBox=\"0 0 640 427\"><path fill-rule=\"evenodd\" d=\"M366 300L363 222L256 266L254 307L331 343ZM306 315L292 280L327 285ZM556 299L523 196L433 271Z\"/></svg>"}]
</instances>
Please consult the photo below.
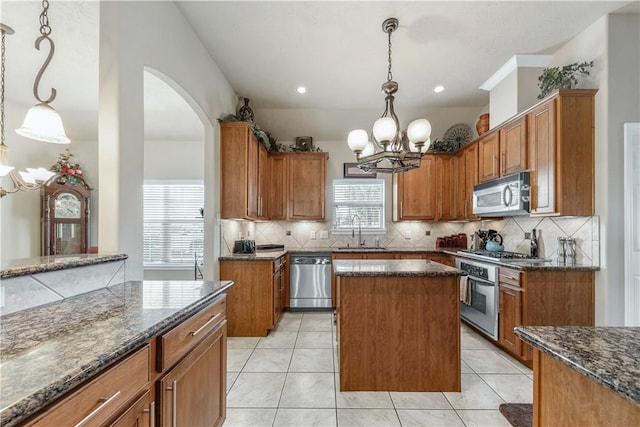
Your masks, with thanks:
<instances>
[{"instance_id":1,"label":"chandelier cut off by the left edge, hanging from chain","mask_svg":"<svg viewBox=\"0 0 640 427\"><path fill-rule=\"evenodd\" d=\"M4 70L5 70L5 36L13 34L13 29L7 25L0 23L0 33L2 36L2 52L0 80L2 87L0 88L0 178L9 175L13 182L13 189L7 190L0 186L0 197L20 190L37 190L47 182L55 174L45 168L27 168L26 172L16 173L13 166L8 164L9 147L4 143Z\"/></svg>"}]
</instances>

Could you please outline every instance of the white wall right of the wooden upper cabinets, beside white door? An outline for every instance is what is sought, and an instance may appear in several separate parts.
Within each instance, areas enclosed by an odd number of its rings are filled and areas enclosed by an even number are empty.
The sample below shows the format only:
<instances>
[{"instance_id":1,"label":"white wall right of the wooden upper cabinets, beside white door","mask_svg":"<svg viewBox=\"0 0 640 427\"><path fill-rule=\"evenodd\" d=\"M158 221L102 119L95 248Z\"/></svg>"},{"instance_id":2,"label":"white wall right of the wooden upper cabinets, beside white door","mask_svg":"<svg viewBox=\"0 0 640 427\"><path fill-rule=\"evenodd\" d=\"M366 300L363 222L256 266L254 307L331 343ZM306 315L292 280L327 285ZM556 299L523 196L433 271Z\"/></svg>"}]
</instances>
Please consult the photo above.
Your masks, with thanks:
<instances>
[{"instance_id":1,"label":"white wall right of the wooden upper cabinets, beside white door","mask_svg":"<svg viewBox=\"0 0 640 427\"><path fill-rule=\"evenodd\" d=\"M622 123L640 119L637 14L604 16L560 48L550 66L595 61L582 87L599 88L595 112L595 200L600 216L601 270L596 324L624 324Z\"/></svg>"}]
</instances>

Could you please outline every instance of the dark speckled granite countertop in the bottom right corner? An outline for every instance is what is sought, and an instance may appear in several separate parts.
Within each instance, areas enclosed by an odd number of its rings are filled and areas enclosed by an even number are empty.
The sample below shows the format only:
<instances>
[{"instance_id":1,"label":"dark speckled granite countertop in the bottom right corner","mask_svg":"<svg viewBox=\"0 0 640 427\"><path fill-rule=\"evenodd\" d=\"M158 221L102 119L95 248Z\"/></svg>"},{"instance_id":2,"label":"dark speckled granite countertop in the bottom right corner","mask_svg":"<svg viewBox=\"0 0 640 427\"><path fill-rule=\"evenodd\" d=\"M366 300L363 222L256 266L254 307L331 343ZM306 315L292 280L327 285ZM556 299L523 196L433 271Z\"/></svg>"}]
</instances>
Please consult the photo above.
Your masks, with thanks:
<instances>
[{"instance_id":1,"label":"dark speckled granite countertop in the bottom right corner","mask_svg":"<svg viewBox=\"0 0 640 427\"><path fill-rule=\"evenodd\" d=\"M523 341L640 405L640 328L521 326Z\"/></svg>"}]
</instances>

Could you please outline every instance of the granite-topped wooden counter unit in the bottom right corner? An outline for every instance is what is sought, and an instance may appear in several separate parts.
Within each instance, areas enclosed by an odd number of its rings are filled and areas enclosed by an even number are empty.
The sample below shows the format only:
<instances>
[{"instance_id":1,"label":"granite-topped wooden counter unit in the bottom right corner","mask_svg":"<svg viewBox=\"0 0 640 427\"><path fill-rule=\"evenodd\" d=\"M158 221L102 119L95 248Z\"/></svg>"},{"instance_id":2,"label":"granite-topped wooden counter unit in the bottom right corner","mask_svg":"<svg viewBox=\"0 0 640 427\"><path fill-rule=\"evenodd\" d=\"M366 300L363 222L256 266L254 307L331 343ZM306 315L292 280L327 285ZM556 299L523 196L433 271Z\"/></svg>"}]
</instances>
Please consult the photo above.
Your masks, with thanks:
<instances>
[{"instance_id":1,"label":"granite-topped wooden counter unit in the bottom right corner","mask_svg":"<svg viewBox=\"0 0 640 427\"><path fill-rule=\"evenodd\" d=\"M533 425L640 424L640 328L527 326Z\"/></svg>"}]
</instances>

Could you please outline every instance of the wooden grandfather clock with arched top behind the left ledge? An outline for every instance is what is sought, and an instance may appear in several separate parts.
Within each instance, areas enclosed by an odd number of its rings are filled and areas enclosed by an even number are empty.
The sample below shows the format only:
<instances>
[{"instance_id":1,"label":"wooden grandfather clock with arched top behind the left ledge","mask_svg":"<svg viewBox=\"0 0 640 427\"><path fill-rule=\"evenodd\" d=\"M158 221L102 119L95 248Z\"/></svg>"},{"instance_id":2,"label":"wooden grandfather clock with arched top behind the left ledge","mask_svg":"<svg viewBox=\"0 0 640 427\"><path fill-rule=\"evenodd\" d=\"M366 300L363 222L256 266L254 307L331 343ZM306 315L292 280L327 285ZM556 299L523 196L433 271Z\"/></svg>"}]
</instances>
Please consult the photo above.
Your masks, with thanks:
<instances>
[{"instance_id":1,"label":"wooden grandfather clock with arched top behind the left ledge","mask_svg":"<svg viewBox=\"0 0 640 427\"><path fill-rule=\"evenodd\" d=\"M89 250L89 197L91 188L56 178L42 187L42 255L84 254Z\"/></svg>"}]
</instances>

